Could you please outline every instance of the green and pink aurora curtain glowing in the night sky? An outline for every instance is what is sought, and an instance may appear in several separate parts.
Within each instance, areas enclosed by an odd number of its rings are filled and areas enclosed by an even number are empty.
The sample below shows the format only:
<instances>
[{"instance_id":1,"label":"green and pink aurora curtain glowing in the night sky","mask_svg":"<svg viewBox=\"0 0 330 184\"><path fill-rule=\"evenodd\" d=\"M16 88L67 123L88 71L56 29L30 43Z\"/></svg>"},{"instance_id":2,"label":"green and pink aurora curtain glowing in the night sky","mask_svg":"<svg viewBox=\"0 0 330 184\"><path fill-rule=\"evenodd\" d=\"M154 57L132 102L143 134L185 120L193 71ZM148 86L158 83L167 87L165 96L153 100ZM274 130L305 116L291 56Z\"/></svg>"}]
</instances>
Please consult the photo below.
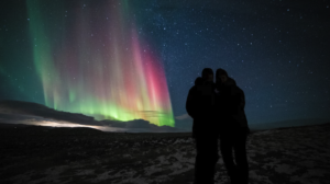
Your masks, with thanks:
<instances>
[{"instance_id":1,"label":"green and pink aurora curtain glowing in the night sky","mask_svg":"<svg viewBox=\"0 0 330 184\"><path fill-rule=\"evenodd\" d=\"M160 58L139 36L135 24L125 21L130 18L128 1L123 5L113 5L119 1L105 2L99 11L89 8L88 13L88 7L77 2L84 9L75 10L74 23L63 25L65 32L54 34L44 25L48 20L41 1L28 1L34 64L45 104L97 119L141 118L173 127ZM103 15L107 19L95 19Z\"/></svg>"}]
</instances>

